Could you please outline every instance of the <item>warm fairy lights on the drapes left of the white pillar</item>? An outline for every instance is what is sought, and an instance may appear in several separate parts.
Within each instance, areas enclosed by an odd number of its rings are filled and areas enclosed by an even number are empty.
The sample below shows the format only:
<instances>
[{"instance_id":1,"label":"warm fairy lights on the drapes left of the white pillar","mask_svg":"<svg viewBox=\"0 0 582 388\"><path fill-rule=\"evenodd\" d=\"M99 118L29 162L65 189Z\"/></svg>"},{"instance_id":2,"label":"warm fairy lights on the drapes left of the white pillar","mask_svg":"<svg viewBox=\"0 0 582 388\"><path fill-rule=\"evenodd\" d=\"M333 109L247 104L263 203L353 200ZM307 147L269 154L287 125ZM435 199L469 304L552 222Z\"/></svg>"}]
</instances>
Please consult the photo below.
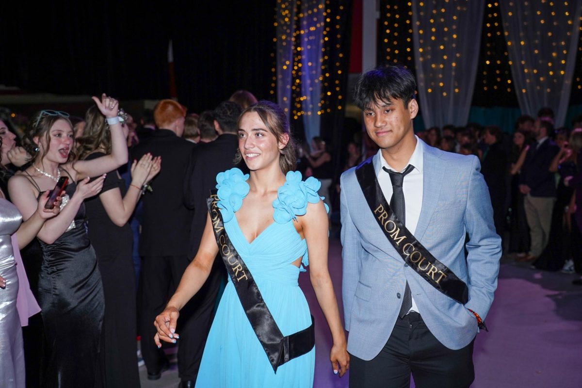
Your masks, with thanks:
<instances>
[{"instance_id":1,"label":"warm fairy lights on the drapes left of the white pillar","mask_svg":"<svg viewBox=\"0 0 582 388\"><path fill-rule=\"evenodd\" d=\"M278 34L274 42L286 41L292 45L292 58L277 63L288 47L278 45L278 52L271 54L275 65L272 67L272 82L270 94L276 94L278 70L290 69L290 118L297 120L304 115L323 115L342 109L341 76L346 69L346 56L342 51L342 31L345 30L347 9L346 1L326 0L324 4L313 0L285 1L277 0L274 26ZM306 9L306 4L307 9ZM321 20L320 23L306 23L306 20ZM320 42L313 42L314 36L321 36ZM306 51L311 44L321 45L319 58L310 58L305 62ZM313 86L306 86L301 79L304 72L319 73L315 66L321 69L321 75L313 80L320 83L321 92L317 100L308 98L308 92ZM279 68L278 68L279 67ZM307 88L307 90L306 90ZM338 102L340 101L340 102ZM317 105L315 105L317 104Z\"/></svg>"}]
</instances>

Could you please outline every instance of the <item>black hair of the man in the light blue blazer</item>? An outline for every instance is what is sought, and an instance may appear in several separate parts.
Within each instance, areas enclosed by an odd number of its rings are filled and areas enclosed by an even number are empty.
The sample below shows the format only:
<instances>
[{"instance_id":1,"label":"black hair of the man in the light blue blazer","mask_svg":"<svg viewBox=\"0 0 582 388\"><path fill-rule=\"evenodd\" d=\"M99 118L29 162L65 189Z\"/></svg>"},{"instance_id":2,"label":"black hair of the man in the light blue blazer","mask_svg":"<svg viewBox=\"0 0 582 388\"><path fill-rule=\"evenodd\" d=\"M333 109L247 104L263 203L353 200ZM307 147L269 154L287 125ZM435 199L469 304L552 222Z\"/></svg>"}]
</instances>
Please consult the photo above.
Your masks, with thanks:
<instances>
[{"instance_id":1,"label":"black hair of the man in the light blue blazer","mask_svg":"<svg viewBox=\"0 0 582 388\"><path fill-rule=\"evenodd\" d=\"M414 98L416 80L403 65L382 65L360 76L354 89L354 102L358 108L371 108L378 102L402 99L404 108Z\"/></svg>"}]
</instances>

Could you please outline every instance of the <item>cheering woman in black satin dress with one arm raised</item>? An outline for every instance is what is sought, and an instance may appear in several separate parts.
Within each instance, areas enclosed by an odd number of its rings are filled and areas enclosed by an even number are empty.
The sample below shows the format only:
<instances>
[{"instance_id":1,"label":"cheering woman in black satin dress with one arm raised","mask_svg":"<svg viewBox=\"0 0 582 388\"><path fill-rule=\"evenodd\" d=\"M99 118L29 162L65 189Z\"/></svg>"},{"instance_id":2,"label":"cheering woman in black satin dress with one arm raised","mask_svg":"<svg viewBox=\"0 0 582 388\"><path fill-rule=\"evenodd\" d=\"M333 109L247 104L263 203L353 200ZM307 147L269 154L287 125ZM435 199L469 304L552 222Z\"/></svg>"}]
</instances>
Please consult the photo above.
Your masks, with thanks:
<instances>
[{"instance_id":1,"label":"cheering woman in black satin dress with one arm raised","mask_svg":"<svg viewBox=\"0 0 582 388\"><path fill-rule=\"evenodd\" d=\"M110 124L111 155L74 162L68 113L41 111L23 140L33 155L32 165L8 182L10 197L26 220L36 211L40 193L54 188L59 177L69 178L61 213L48 220L37 236L42 247L38 302L48 347L43 387L93 387L100 381L98 351L105 303L83 201L101 191L105 173L127 163L127 147L118 102L105 94L93 100ZM90 182L89 177L95 176L98 179Z\"/></svg>"}]
</instances>

